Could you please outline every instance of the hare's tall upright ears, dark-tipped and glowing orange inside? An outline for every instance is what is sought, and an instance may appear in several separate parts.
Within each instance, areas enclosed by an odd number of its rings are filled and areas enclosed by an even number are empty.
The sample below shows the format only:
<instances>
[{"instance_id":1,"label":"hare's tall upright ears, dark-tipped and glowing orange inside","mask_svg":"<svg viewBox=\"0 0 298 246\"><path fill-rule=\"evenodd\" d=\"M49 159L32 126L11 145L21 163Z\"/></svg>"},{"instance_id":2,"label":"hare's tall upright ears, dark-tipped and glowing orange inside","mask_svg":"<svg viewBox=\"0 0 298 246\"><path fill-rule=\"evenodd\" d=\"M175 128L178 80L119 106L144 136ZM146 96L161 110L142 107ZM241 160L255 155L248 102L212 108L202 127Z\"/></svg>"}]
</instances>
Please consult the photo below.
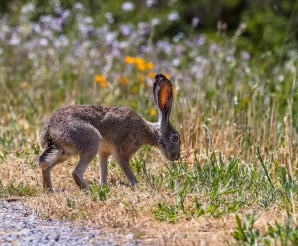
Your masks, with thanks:
<instances>
[{"instance_id":1,"label":"hare's tall upright ears, dark-tipped and glowing orange inside","mask_svg":"<svg viewBox=\"0 0 298 246\"><path fill-rule=\"evenodd\" d=\"M169 125L169 117L171 114L173 89L171 81L162 74L155 76L153 97L159 113L159 127L166 128Z\"/></svg>"}]
</instances>

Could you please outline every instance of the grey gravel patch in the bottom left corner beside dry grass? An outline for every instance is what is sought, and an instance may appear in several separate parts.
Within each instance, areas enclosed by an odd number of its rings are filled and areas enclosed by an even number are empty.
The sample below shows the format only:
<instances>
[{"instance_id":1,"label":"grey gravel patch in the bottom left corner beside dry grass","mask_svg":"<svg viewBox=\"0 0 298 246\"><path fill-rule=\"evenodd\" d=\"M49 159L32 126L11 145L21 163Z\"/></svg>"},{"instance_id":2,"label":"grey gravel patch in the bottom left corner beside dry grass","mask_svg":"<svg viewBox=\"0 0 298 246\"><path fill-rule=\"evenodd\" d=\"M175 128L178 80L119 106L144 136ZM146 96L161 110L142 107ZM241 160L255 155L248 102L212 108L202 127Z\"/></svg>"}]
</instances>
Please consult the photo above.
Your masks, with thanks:
<instances>
[{"instance_id":1,"label":"grey gravel patch in the bottom left corner beside dry grass","mask_svg":"<svg viewBox=\"0 0 298 246\"><path fill-rule=\"evenodd\" d=\"M124 236L124 237L123 237ZM59 220L40 220L30 208L20 202L0 202L0 245L100 245L100 246L136 246L129 234L126 242L119 237L105 233L96 227L83 226L76 222Z\"/></svg>"}]
</instances>

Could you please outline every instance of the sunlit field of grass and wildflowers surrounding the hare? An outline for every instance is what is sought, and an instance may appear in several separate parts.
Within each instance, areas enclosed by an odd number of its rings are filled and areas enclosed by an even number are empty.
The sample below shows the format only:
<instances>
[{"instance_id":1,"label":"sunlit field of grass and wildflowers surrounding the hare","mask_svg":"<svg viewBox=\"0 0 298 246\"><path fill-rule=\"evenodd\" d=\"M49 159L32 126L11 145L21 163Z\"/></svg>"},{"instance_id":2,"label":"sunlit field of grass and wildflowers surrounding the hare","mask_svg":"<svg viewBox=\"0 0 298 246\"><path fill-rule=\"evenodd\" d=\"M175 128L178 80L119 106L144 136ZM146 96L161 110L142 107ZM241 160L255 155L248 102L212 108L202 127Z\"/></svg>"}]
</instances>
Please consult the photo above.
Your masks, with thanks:
<instances>
[{"instance_id":1,"label":"sunlit field of grass and wildflowers surrounding the hare","mask_svg":"<svg viewBox=\"0 0 298 246\"><path fill-rule=\"evenodd\" d=\"M142 244L298 244L297 51L277 59L238 50L244 24L231 37L219 27L217 42L180 33L154 43L156 20L112 30L93 26L79 6L35 22L25 10L17 22L0 18L2 199ZM70 15L72 30L61 34ZM85 172L91 185L81 191L73 158L52 172L58 191L44 192L36 161L46 117L65 105L101 104L156 122L156 73L174 86L170 120L181 159L143 147L131 162L134 188L113 159L108 185L99 186L94 159Z\"/></svg>"}]
</instances>

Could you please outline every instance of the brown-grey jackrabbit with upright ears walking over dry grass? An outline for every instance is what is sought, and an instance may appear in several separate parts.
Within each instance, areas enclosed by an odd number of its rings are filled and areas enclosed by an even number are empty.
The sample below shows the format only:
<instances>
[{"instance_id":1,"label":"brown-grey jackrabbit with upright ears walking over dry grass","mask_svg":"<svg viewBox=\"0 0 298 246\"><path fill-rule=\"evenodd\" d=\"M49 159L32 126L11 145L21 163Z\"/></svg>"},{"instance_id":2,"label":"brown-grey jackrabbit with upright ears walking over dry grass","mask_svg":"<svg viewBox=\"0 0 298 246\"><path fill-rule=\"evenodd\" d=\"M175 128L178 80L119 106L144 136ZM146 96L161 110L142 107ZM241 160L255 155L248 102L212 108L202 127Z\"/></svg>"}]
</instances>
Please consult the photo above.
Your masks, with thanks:
<instances>
[{"instance_id":1,"label":"brown-grey jackrabbit with upright ears walking over dry grass","mask_svg":"<svg viewBox=\"0 0 298 246\"><path fill-rule=\"evenodd\" d=\"M75 155L80 159L73 177L80 188L88 186L83 174L97 154L100 184L107 183L110 155L131 185L138 184L129 160L143 144L157 147L170 161L178 160L180 136L169 122L173 89L162 74L155 76L153 98L159 113L157 123L147 122L130 108L73 105L56 110L44 122L40 134L44 150L38 165L42 169L43 187L53 192L51 170Z\"/></svg>"}]
</instances>

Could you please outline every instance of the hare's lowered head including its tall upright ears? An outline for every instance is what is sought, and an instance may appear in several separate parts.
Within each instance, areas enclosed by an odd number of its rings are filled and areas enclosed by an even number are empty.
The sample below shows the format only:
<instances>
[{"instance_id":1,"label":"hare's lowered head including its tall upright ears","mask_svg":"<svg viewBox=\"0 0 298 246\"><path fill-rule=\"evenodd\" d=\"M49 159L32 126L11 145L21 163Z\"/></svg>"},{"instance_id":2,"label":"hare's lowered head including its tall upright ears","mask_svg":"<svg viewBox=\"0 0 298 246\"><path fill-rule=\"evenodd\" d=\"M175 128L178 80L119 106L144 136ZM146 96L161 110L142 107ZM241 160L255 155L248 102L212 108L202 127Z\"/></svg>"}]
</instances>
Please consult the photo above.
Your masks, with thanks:
<instances>
[{"instance_id":1,"label":"hare's lowered head including its tall upright ears","mask_svg":"<svg viewBox=\"0 0 298 246\"><path fill-rule=\"evenodd\" d=\"M159 113L157 147L169 161L178 160L180 157L180 135L169 122L173 100L172 83L162 74L155 76L153 98Z\"/></svg>"}]
</instances>

